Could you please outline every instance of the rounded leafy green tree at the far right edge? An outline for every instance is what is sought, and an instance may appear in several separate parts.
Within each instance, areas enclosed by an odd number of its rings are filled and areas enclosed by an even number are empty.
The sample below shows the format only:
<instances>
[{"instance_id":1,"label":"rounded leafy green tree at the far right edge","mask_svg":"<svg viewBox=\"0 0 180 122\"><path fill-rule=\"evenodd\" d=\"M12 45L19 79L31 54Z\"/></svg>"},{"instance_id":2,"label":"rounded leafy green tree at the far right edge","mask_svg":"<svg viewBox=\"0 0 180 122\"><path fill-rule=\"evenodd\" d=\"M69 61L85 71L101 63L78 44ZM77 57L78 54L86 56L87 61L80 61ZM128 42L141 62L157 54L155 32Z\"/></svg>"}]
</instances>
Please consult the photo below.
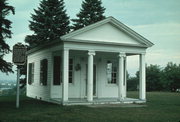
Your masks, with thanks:
<instances>
[{"instance_id":1,"label":"rounded leafy green tree at the far right edge","mask_svg":"<svg viewBox=\"0 0 180 122\"><path fill-rule=\"evenodd\" d=\"M180 65L169 62L162 72L161 81L166 90L180 88Z\"/></svg>"}]
</instances>

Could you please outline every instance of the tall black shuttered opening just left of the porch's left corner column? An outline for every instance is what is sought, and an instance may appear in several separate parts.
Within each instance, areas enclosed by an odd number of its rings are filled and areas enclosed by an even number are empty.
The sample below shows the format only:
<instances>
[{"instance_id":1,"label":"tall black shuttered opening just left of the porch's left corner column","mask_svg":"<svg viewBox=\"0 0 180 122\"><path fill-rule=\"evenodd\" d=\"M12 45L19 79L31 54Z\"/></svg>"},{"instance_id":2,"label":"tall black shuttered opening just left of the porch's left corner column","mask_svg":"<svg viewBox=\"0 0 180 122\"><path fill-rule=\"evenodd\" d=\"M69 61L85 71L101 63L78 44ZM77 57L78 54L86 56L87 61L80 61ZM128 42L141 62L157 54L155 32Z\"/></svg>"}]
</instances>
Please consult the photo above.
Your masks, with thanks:
<instances>
[{"instance_id":1,"label":"tall black shuttered opening just left of the porch's left corner column","mask_svg":"<svg viewBox=\"0 0 180 122\"><path fill-rule=\"evenodd\" d=\"M53 66L53 85L60 85L62 81L62 73L61 73L61 57L54 57L54 66Z\"/></svg>"}]
</instances>

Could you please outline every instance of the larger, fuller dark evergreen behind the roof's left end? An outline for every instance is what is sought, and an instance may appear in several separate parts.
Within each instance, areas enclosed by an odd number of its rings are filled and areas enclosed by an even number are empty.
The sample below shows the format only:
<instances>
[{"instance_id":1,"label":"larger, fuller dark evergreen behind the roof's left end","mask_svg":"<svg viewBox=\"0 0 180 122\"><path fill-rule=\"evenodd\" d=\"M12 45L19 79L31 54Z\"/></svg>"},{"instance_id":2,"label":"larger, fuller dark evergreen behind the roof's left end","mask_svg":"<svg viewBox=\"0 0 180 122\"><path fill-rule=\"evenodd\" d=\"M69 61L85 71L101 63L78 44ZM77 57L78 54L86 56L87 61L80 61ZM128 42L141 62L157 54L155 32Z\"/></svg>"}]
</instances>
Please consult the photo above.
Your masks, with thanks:
<instances>
[{"instance_id":1,"label":"larger, fuller dark evergreen behind the roof's left end","mask_svg":"<svg viewBox=\"0 0 180 122\"><path fill-rule=\"evenodd\" d=\"M25 38L25 42L31 47L58 40L60 36L69 32L69 17L63 0L42 0L34 12L29 25L34 34Z\"/></svg>"}]
</instances>

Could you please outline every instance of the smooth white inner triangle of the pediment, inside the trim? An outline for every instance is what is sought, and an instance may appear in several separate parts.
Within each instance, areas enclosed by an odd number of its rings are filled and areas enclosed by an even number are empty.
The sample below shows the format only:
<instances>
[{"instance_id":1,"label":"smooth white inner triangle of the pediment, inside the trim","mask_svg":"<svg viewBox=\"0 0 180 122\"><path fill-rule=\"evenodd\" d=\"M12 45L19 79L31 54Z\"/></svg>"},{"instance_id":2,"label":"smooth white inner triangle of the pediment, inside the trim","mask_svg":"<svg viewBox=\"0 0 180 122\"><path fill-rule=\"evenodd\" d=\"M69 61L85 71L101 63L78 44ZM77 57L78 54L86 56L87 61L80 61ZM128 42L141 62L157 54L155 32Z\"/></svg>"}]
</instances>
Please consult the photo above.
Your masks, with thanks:
<instances>
[{"instance_id":1,"label":"smooth white inner triangle of the pediment, inside the trim","mask_svg":"<svg viewBox=\"0 0 180 122\"><path fill-rule=\"evenodd\" d=\"M71 38L76 40L114 42L122 44L140 44L138 41L134 40L132 37L128 36L110 23L103 24Z\"/></svg>"}]
</instances>

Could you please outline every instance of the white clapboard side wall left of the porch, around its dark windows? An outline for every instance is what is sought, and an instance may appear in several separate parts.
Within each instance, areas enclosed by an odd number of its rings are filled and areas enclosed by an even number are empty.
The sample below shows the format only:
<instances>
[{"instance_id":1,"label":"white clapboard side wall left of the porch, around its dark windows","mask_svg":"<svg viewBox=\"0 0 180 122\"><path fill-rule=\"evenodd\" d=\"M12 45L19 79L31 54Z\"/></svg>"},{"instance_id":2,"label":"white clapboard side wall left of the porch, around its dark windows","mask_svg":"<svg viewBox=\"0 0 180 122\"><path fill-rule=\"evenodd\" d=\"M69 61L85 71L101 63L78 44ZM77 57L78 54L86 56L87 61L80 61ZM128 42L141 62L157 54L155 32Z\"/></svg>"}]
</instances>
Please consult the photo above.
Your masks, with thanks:
<instances>
[{"instance_id":1,"label":"white clapboard side wall left of the porch, around its dark windows","mask_svg":"<svg viewBox=\"0 0 180 122\"><path fill-rule=\"evenodd\" d=\"M48 76L47 76L47 85L40 85L40 60L48 60ZM27 96L38 98L38 99L49 99L50 98L50 83L51 83L51 51L41 50L35 54L28 56L28 63L34 62L34 83L27 85ZM28 79L28 78L27 78Z\"/></svg>"}]
</instances>

